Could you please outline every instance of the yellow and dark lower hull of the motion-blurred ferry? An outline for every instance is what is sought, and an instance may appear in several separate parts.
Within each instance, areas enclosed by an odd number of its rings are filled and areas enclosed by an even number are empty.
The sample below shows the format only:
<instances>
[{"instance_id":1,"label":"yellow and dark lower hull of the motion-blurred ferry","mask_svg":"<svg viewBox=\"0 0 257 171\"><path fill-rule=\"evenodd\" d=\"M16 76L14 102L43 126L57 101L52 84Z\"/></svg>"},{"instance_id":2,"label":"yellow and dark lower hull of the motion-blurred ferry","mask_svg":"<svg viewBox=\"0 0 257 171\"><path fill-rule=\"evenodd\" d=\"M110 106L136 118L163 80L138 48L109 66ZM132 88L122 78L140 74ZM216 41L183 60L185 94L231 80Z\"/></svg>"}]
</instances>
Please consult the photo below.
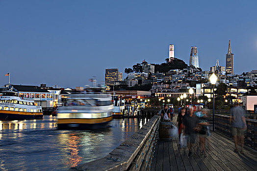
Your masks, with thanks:
<instances>
[{"instance_id":1,"label":"yellow and dark lower hull of the motion-blurred ferry","mask_svg":"<svg viewBox=\"0 0 257 171\"><path fill-rule=\"evenodd\" d=\"M95 119L58 119L58 129L94 130L108 128L112 116Z\"/></svg>"}]
</instances>

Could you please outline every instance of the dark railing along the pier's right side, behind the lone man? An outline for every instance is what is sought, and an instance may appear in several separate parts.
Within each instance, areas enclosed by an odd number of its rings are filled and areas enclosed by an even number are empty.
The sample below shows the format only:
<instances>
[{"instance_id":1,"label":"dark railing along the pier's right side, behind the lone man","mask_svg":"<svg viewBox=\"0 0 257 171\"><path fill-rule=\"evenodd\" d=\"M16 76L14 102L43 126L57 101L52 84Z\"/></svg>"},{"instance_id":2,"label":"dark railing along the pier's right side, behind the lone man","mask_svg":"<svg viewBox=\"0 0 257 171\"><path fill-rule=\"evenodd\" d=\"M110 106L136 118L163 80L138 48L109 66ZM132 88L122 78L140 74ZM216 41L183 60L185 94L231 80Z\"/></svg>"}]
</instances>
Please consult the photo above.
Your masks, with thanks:
<instances>
[{"instance_id":1,"label":"dark railing along the pier's right side, behind the lone man","mask_svg":"<svg viewBox=\"0 0 257 171\"><path fill-rule=\"evenodd\" d=\"M257 120L246 119L246 124L245 145L257 150ZM230 116L215 115L215 129L216 131L231 137Z\"/></svg>"}]
</instances>

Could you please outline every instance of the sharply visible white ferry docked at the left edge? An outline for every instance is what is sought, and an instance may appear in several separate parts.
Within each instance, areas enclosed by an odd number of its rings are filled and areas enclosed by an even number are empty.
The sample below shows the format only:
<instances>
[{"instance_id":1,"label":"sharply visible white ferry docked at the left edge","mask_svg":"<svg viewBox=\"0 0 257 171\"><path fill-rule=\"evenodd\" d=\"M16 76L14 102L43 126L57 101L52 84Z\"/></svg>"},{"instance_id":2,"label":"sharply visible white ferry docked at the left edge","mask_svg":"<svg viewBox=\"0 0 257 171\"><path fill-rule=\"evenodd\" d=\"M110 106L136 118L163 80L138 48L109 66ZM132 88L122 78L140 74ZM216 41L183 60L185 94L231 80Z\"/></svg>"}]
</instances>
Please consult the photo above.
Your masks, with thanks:
<instances>
[{"instance_id":1,"label":"sharply visible white ferry docked at the left edge","mask_svg":"<svg viewBox=\"0 0 257 171\"><path fill-rule=\"evenodd\" d=\"M0 96L0 120L42 119L42 107L30 98Z\"/></svg>"}]
</instances>

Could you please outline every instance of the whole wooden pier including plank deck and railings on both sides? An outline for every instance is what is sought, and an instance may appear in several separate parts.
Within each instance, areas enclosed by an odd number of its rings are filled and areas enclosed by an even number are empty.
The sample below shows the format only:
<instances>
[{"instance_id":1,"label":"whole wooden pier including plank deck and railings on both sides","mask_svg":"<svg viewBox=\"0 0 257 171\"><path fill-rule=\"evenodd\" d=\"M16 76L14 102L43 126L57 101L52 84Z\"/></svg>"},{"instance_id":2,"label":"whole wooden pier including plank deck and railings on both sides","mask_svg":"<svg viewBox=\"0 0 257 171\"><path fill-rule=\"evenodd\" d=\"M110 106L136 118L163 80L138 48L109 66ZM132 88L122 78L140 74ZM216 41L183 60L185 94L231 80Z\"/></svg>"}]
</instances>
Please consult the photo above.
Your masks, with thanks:
<instances>
[{"instance_id":1,"label":"whole wooden pier including plank deck and railings on both sides","mask_svg":"<svg viewBox=\"0 0 257 171\"><path fill-rule=\"evenodd\" d=\"M177 115L173 120L173 124ZM78 165L70 171L256 171L257 121L247 120L244 154L234 152L228 116L215 115L216 131L206 138L206 154L199 139L188 157L180 148L178 135L171 141L158 140L160 116L154 115L134 135L102 159Z\"/></svg>"}]
</instances>

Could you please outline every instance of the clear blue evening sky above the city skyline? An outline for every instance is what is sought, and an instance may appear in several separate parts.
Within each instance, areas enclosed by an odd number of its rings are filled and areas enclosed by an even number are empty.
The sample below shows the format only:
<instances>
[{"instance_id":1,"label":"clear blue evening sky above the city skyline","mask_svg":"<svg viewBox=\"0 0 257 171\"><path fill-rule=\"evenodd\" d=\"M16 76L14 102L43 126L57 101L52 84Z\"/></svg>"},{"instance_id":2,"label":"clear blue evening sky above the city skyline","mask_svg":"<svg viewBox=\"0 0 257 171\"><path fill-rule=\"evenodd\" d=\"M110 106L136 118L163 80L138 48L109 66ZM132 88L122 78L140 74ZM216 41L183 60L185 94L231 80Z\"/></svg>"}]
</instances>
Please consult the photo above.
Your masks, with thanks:
<instances>
[{"instance_id":1,"label":"clear blue evening sky above the city skyline","mask_svg":"<svg viewBox=\"0 0 257 171\"><path fill-rule=\"evenodd\" d=\"M75 87L105 68L163 63L169 44L189 63L197 46L204 70L257 69L256 0L0 0L0 85ZM127 74L124 74L124 78Z\"/></svg>"}]
</instances>

